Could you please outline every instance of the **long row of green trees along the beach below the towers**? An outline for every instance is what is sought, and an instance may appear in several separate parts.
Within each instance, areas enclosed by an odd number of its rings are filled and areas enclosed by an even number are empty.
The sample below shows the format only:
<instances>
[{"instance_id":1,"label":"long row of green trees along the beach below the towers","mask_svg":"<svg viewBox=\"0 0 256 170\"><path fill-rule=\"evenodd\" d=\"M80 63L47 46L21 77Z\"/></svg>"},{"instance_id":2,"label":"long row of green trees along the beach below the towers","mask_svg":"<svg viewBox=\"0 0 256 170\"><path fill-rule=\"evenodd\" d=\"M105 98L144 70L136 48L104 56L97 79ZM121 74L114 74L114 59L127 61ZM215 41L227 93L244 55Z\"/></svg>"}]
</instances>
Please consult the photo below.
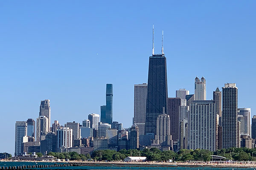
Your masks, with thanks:
<instances>
[{"instance_id":1,"label":"long row of green trees along the beach below the towers","mask_svg":"<svg viewBox=\"0 0 256 170\"><path fill-rule=\"evenodd\" d=\"M70 153L53 153L50 152L48 155L55 156L59 159L70 159L70 160L87 160L93 159L96 161L119 161L123 160L128 156L145 156L148 161L169 161L170 159L174 161L210 161L212 159L211 155L224 156L227 159L232 159L235 161L254 161L256 160L256 148L229 148L221 149L215 152L209 150L187 150L182 149L177 153L168 150L160 151L157 148L144 149L144 150L95 150L92 155L83 155L76 152Z\"/></svg>"}]
</instances>

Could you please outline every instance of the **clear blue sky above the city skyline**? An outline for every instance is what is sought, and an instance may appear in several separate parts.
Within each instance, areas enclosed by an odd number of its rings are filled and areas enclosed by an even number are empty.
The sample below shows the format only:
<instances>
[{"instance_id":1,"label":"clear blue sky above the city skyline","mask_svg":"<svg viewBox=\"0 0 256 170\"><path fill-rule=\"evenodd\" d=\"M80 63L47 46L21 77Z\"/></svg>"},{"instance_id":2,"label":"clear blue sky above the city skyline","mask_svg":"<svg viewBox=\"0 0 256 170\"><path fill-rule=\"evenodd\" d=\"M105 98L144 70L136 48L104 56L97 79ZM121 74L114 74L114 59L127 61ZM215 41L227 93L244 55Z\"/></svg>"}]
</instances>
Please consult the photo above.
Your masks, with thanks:
<instances>
[{"instance_id":1,"label":"clear blue sky above the city skyline","mask_svg":"<svg viewBox=\"0 0 256 170\"><path fill-rule=\"evenodd\" d=\"M36 119L50 99L52 122L82 122L105 105L113 84L113 121L132 124L134 84L147 82L152 52L167 58L168 94L204 76L207 99L224 83L239 107L255 104L256 2L1 1L0 152L14 153L15 121Z\"/></svg>"}]
</instances>

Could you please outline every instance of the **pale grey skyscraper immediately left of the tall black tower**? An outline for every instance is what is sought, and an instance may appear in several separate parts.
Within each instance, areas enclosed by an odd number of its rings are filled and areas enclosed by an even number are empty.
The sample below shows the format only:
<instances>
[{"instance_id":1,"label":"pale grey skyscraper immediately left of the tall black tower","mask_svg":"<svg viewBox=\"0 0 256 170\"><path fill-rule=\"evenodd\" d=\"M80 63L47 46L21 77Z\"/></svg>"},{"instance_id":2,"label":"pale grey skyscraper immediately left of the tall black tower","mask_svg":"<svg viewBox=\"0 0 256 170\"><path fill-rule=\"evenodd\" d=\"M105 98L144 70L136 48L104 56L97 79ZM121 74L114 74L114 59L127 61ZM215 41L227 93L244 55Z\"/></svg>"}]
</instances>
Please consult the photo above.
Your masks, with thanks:
<instances>
[{"instance_id":1,"label":"pale grey skyscraper immediately left of the tall black tower","mask_svg":"<svg viewBox=\"0 0 256 170\"><path fill-rule=\"evenodd\" d=\"M134 123L139 127L139 135L145 134L147 89L147 83L134 85Z\"/></svg>"}]
</instances>

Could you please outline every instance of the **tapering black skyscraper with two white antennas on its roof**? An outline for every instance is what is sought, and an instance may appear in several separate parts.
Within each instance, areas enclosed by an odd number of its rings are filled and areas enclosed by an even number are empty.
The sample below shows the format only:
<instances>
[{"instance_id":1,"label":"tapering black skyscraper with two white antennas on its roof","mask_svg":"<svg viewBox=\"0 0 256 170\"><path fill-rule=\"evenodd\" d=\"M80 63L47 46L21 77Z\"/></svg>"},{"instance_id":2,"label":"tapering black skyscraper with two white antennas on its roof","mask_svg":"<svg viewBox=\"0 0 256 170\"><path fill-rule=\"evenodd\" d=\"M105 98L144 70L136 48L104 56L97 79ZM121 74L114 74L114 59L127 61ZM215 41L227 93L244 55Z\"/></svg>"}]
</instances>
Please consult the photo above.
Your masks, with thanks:
<instances>
[{"instance_id":1,"label":"tapering black skyscraper with two white antennas on its roof","mask_svg":"<svg viewBox=\"0 0 256 170\"><path fill-rule=\"evenodd\" d=\"M148 66L148 94L146 103L145 133L155 133L157 130L157 117L166 113L167 99L167 73L166 57L163 54L154 54L154 27L153 27L153 51L149 57ZM164 109L163 109L164 108Z\"/></svg>"}]
</instances>

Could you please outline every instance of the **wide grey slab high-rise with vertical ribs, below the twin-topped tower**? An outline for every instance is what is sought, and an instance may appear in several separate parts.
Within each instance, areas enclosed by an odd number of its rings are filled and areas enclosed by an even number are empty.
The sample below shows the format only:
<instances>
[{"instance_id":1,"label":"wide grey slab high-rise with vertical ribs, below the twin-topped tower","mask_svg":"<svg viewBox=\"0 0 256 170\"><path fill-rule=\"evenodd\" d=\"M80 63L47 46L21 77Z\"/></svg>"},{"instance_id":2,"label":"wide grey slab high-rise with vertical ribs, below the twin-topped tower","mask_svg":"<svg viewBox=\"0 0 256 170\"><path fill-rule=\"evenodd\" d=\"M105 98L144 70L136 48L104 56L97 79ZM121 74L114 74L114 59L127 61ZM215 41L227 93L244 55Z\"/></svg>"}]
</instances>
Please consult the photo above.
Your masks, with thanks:
<instances>
[{"instance_id":1,"label":"wide grey slab high-rise with vertical ribs, below the twin-topped tower","mask_svg":"<svg viewBox=\"0 0 256 170\"><path fill-rule=\"evenodd\" d=\"M189 107L188 148L215 151L216 112L214 100L194 100Z\"/></svg>"}]
</instances>

